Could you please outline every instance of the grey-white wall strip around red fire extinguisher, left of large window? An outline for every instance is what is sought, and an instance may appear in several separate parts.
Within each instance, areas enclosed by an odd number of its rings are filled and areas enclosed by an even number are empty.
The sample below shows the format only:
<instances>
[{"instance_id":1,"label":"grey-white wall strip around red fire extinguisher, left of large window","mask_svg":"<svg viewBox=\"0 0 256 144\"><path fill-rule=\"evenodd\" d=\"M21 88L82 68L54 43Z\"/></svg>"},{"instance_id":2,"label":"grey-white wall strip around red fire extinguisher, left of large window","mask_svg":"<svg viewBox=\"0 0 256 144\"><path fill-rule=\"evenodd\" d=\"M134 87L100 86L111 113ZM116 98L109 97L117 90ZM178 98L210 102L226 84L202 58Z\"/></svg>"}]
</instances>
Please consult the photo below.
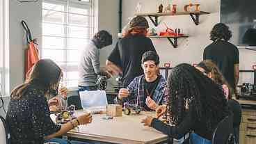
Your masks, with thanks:
<instances>
[{"instance_id":1,"label":"grey-white wall strip around red fire extinguisher, left of large window","mask_svg":"<svg viewBox=\"0 0 256 144\"><path fill-rule=\"evenodd\" d=\"M42 1L32 3L20 3L10 0L10 90L24 81L24 49L26 49L26 35L22 20L26 21L33 38L38 39L38 47L41 47L41 19Z\"/></svg>"}]
</instances>

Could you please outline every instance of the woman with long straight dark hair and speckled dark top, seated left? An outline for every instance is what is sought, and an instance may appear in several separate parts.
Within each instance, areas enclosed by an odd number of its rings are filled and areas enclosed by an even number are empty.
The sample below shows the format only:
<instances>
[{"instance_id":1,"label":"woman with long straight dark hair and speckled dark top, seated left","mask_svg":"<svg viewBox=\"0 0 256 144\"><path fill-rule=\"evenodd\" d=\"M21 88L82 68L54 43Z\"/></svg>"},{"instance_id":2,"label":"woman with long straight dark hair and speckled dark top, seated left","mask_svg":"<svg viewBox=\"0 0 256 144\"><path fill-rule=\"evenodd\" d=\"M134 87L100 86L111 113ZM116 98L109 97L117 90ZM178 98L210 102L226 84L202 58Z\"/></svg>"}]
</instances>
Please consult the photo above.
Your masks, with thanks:
<instances>
[{"instance_id":1,"label":"woman with long straight dark hair and speckled dark top, seated left","mask_svg":"<svg viewBox=\"0 0 256 144\"><path fill-rule=\"evenodd\" d=\"M58 89L62 78L61 68L54 61L42 59L35 63L25 83L11 92L6 122L12 144L44 143L78 125L92 122L88 113L64 125L56 125L51 120L47 97L52 90Z\"/></svg>"}]
</instances>

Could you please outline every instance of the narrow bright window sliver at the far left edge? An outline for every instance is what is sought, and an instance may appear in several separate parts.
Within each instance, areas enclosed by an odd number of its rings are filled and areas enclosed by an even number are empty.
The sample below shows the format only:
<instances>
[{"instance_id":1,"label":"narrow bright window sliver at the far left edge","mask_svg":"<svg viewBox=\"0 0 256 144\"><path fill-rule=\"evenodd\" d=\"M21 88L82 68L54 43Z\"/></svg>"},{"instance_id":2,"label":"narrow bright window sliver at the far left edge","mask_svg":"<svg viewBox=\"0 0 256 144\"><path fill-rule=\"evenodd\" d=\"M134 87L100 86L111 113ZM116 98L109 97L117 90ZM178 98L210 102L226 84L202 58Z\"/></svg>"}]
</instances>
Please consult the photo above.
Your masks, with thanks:
<instances>
[{"instance_id":1,"label":"narrow bright window sliver at the far left edge","mask_svg":"<svg viewBox=\"0 0 256 144\"><path fill-rule=\"evenodd\" d=\"M8 0L0 1L0 90L1 95L9 95L9 19Z\"/></svg>"}]
</instances>

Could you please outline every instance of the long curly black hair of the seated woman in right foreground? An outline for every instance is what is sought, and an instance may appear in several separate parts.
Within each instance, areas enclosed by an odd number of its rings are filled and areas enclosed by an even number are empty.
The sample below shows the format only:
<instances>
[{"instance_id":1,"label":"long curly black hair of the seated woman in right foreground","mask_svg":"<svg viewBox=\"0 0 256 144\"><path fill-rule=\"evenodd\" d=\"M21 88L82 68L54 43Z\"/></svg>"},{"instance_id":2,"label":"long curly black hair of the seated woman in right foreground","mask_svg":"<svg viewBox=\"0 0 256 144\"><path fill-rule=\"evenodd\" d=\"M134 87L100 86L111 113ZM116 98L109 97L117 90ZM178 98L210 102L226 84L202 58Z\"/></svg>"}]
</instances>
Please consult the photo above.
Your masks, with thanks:
<instances>
[{"instance_id":1,"label":"long curly black hair of the seated woman in right foreground","mask_svg":"<svg viewBox=\"0 0 256 144\"><path fill-rule=\"evenodd\" d=\"M206 120L207 131L213 131L227 115L227 99L221 86L195 67L182 63L173 68L168 78L167 115L179 125L186 115L186 104L193 106L197 121Z\"/></svg>"}]
</instances>

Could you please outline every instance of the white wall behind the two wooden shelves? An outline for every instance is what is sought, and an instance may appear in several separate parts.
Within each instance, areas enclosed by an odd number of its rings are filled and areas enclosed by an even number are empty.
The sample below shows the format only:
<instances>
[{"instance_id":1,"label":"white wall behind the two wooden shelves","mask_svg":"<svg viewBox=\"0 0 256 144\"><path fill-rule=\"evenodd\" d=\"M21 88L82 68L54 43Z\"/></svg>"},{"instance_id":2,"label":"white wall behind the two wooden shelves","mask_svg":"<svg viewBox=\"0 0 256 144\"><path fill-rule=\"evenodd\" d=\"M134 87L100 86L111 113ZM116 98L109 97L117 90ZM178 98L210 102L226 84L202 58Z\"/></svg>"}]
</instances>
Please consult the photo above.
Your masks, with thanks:
<instances>
[{"instance_id":1,"label":"white wall behind the two wooden shelves","mask_svg":"<svg viewBox=\"0 0 256 144\"><path fill-rule=\"evenodd\" d=\"M132 17L136 13L136 5L138 2L141 3L141 13L155 13L157 7L163 3L166 6L167 0L129 0L123 1L122 5L122 26L125 26L128 22L128 17ZM178 47L173 48L167 39L152 39L154 47L156 48L160 60L161 67L163 63L170 62L171 66L174 67L179 63L198 63L202 61L203 50L207 45L211 43L209 40L209 32L211 31L214 24L220 22L220 3L221 0L191 0L191 1L180 1L173 0L172 4L177 4L177 11L183 11L184 5L188 3L200 3L200 10L207 11L211 14L201 15L199 20L200 24L196 26L189 15L182 16L166 16L159 17L159 26L157 26L157 32L164 31L166 26L164 22L171 28L182 29L182 33L189 35L189 38L178 39ZM150 28L155 26L152 24L149 18L147 18ZM251 65L256 65L255 51L248 51L239 49L240 51L240 69L251 70ZM253 74L241 74L241 81L247 81L253 83Z\"/></svg>"}]
</instances>

